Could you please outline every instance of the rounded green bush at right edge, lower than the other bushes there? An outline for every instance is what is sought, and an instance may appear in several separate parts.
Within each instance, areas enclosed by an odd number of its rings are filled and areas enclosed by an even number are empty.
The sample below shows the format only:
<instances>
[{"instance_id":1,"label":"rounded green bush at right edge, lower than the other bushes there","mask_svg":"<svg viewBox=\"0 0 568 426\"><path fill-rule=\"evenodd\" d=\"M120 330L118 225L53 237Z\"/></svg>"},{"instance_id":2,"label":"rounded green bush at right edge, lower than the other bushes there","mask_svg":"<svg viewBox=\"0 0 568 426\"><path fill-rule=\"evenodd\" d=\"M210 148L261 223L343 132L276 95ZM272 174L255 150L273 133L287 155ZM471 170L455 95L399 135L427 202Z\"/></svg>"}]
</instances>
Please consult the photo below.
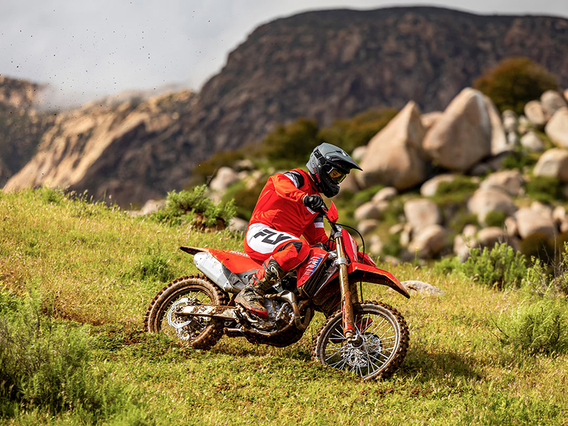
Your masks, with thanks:
<instances>
[{"instance_id":1,"label":"rounded green bush at right edge, lower than the other bushes there","mask_svg":"<svg viewBox=\"0 0 568 426\"><path fill-rule=\"evenodd\" d=\"M501 342L528 354L568 352L566 307L555 300L525 302L498 322Z\"/></svg>"}]
</instances>

